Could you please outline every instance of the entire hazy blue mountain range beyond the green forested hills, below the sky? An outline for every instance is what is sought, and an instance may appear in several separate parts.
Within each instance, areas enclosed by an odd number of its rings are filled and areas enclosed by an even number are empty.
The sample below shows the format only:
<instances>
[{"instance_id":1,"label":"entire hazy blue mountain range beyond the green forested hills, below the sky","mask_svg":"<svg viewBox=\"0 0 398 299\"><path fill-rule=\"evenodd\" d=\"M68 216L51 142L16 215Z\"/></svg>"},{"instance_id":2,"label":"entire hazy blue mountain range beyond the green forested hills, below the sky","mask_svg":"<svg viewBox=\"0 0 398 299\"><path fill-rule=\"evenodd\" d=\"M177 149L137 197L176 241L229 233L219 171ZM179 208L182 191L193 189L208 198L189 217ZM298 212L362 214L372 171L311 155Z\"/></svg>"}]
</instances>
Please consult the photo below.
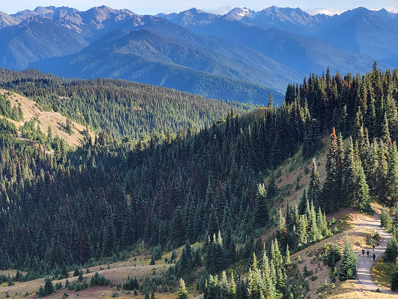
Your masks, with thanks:
<instances>
[{"instance_id":1,"label":"entire hazy blue mountain range beyond the green forested hills, below the sky","mask_svg":"<svg viewBox=\"0 0 398 299\"><path fill-rule=\"evenodd\" d=\"M300 8L192 8L138 15L107 6L0 12L0 66L66 77L120 78L207 97L277 103L311 72L398 66L398 16L359 7L340 15Z\"/></svg>"}]
</instances>

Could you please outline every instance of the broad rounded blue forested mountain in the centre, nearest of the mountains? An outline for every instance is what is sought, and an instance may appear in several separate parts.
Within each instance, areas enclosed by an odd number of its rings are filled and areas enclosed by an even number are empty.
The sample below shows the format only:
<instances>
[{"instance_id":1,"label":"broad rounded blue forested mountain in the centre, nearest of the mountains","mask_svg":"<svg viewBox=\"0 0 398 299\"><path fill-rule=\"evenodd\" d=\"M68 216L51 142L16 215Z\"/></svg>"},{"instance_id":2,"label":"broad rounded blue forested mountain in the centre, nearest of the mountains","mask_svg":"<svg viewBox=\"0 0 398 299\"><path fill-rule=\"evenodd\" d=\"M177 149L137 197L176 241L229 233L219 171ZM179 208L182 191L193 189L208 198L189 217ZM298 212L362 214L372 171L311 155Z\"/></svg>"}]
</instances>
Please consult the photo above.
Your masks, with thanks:
<instances>
[{"instance_id":1,"label":"broad rounded blue forested mountain in the centre, nearest of the mountains","mask_svg":"<svg viewBox=\"0 0 398 299\"><path fill-rule=\"evenodd\" d=\"M159 22L138 30L114 30L77 54L30 66L64 77L120 78L263 105L271 92L281 104L284 90L280 87L285 89L286 82L299 78L293 69L229 40L221 43L219 38L199 36L172 23L169 28L186 31L185 39L170 36L170 30L169 36L161 35L165 25Z\"/></svg>"}]
</instances>

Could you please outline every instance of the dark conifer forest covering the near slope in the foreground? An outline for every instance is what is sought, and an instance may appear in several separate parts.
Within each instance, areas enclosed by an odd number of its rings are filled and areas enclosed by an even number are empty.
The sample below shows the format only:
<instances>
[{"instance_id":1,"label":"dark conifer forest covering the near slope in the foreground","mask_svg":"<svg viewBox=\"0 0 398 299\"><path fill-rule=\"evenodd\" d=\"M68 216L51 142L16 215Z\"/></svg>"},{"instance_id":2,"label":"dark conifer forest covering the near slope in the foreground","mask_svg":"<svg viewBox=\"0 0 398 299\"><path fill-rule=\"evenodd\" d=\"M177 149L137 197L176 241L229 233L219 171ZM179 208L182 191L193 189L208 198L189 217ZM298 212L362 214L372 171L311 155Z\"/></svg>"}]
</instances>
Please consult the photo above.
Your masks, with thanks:
<instances>
[{"instance_id":1,"label":"dark conifer forest covering the near slope in the foreground","mask_svg":"<svg viewBox=\"0 0 398 299\"><path fill-rule=\"evenodd\" d=\"M30 83L33 98L46 90L40 84L63 83L50 90L65 91L76 82L60 80ZM20 86L10 80L9 88L27 92ZM290 254L333 233L325 212L355 207L371 213L371 197L397 201L397 101L398 70L381 72L375 63L363 76L312 74L288 86L280 108L270 99L255 113L231 110L197 134L155 132L136 145L87 138L74 151L45 155L15 141L14 128L2 121L0 268L25 271L19 281L65 278L79 264L123 260L138 243L152 248L153 260L186 244L164 279L146 285L148 298L161 285L176 290L180 278L197 279L207 299L300 298L308 282L291 267ZM277 211L293 187L276 186L278 167L299 148L310 159L330 133L323 188L313 162L299 204ZM257 239L263 234L269 236L264 247ZM196 241L202 246L192 250ZM340 280L356 275L348 241L345 248ZM337 250L330 250L330 267L341 258ZM228 267L237 273L231 285L221 274ZM137 287L134 280L131 286Z\"/></svg>"}]
</instances>

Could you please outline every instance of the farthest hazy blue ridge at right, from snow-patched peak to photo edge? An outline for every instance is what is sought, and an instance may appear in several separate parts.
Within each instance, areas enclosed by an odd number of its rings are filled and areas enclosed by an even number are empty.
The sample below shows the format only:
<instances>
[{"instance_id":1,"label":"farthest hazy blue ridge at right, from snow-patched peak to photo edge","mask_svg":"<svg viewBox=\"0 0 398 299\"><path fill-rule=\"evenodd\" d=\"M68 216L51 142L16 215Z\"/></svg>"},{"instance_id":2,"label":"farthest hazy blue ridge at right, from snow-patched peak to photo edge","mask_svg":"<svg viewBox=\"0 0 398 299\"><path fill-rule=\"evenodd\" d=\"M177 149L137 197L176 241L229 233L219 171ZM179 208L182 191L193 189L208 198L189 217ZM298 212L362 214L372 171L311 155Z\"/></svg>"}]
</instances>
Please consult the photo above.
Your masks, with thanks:
<instances>
[{"instance_id":1,"label":"farthest hazy blue ridge at right, from snow-patched peak to photo edge","mask_svg":"<svg viewBox=\"0 0 398 299\"><path fill-rule=\"evenodd\" d=\"M398 14L384 8L374 11L358 7L328 16L310 15L300 8L271 6L241 17L244 10L246 8L234 8L225 16L266 29L277 28L325 40L398 67Z\"/></svg>"}]
</instances>

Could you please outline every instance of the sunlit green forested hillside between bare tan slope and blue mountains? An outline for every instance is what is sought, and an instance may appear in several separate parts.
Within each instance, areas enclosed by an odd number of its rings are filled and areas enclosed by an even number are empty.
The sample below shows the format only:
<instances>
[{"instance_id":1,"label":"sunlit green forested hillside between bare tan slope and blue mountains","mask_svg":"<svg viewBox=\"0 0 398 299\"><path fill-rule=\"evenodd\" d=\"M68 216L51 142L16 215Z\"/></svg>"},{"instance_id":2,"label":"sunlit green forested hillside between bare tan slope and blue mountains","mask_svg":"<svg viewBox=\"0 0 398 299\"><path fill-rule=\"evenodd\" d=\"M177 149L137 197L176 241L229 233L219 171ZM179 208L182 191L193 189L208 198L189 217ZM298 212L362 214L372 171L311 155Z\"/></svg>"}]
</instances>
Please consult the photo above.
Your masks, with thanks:
<instances>
[{"instance_id":1,"label":"sunlit green forested hillside between bare tan slope and blue mountains","mask_svg":"<svg viewBox=\"0 0 398 299\"><path fill-rule=\"evenodd\" d=\"M0 69L0 86L37 102L97 133L133 139L154 130L176 134L197 131L233 108L243 114L254 106L194 96L177 90L123 80L64 79L36 70ZM169 133L168 133L169 132Z\"/></svg>"}]
</instances>

